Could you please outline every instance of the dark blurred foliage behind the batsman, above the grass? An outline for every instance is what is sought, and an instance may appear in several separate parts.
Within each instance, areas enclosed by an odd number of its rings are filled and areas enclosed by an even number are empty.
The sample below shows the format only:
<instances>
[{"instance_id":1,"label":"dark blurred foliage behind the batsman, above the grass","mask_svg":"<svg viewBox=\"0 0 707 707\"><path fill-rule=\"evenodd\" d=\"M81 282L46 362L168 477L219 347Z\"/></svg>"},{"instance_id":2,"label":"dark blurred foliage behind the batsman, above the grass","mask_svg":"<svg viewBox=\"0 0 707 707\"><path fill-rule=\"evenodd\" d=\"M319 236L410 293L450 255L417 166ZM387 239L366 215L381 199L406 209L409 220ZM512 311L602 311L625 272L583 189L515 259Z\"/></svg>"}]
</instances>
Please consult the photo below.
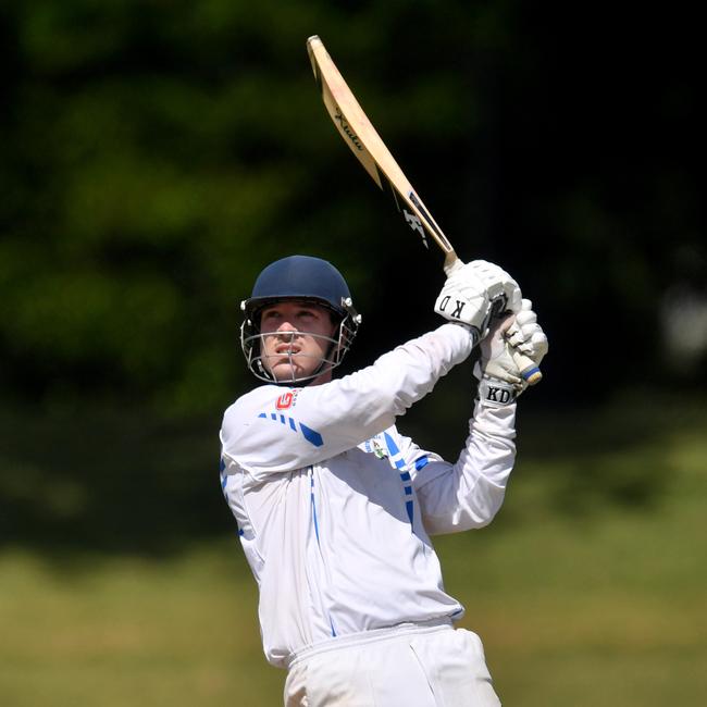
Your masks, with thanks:
<instances>
[{"instance_id":1,"label":"dark blurred foliage behind the batsman, above the grass","mask_svg":"<svg viewBox=\"0 0 707 707\"><path fill-rule=\"evenodd\" d=\"M674 4L3 4L2 537L164 550L228 523L211 466L251 384L238 302L276 258L347 276L347 370L436 324L442 257L336 135L311 34L460 257L534 301L530 412L704 396L698 26ZM443 449L461 375L411 420Z\"/></svg>"}]
</instances>

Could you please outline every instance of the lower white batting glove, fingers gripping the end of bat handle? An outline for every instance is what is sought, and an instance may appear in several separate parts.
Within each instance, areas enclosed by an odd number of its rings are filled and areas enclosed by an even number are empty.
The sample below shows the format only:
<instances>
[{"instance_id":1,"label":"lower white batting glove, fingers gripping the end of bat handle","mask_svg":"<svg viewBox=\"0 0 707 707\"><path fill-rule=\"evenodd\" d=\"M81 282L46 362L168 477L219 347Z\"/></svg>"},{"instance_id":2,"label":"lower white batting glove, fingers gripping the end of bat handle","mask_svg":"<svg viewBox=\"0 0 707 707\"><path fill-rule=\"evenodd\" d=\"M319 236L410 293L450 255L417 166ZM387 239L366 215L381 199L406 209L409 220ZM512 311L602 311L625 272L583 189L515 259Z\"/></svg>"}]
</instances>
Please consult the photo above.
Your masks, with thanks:
<instances>
[{"instance_id":1,"label":"lower white batting glove, fingers gripping the end of bat handle","mask_svg":"<svg viewBox=\"0 0 707 707\"><path fill-rule=\"evenodd\" d=\"M523 299L520 312L495 319L480 348L481 358L474 375L479 379L481 404L499 407L512 402L528 387L518 364L518 354L523 354L539 368L548 349L547 336L537 323L533 302Z\"/></svg>"}]
</instances>

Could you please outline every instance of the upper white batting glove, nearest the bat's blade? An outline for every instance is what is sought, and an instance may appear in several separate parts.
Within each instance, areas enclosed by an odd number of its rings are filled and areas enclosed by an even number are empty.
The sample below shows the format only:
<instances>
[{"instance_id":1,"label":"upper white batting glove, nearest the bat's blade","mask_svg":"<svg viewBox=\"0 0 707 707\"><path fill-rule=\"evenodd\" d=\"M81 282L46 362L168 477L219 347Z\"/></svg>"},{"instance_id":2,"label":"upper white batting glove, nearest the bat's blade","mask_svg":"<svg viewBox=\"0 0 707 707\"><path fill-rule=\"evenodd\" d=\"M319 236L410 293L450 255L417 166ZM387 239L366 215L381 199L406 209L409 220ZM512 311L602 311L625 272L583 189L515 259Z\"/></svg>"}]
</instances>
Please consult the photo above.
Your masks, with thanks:
<instances>
[{"instance_id":1,"label":"upper white batting glove, nearest the bat's blade","mask_svg":"<svg viewBox=\"0 0 707 707\"><path fill-rule=\"evenodd\" d=\"M505 270L485 260L456 268L434 306L437 314L472 328L477 339L486 336L492 313L520 309L518 283Z\"/></svg>"}]
</instances>

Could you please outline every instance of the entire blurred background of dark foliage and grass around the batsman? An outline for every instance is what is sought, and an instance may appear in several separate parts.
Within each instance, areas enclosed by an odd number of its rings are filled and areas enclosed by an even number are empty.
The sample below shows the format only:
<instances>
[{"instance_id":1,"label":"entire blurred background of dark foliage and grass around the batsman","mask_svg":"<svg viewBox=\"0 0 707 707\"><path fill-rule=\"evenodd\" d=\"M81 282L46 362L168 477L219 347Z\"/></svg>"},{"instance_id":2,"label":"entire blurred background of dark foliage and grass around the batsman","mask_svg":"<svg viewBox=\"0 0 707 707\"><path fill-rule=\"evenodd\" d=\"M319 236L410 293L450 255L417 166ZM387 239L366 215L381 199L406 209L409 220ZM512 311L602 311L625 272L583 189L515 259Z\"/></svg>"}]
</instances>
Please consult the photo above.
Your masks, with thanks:
<instances>
[{"instance_id":1,"label":"entire blurred background of dark foliage and grass around the batsman","mask_svg":"<svg viewBox=\"0 0 707 707\"><path fill-rule=\"evenodd\" d=\"M0 5L0 703L281 702L218 479L253 385L239 301L276 258L331 260L363 313L347 372L435 326L444 281L331 123L319 34L458 255L513 274L550 340L504 509L435 543L501 698L704 704L698 26L674 4ZM454 458L473 393L459 367L399 427Z\"/></svg>"}]
</instances>

